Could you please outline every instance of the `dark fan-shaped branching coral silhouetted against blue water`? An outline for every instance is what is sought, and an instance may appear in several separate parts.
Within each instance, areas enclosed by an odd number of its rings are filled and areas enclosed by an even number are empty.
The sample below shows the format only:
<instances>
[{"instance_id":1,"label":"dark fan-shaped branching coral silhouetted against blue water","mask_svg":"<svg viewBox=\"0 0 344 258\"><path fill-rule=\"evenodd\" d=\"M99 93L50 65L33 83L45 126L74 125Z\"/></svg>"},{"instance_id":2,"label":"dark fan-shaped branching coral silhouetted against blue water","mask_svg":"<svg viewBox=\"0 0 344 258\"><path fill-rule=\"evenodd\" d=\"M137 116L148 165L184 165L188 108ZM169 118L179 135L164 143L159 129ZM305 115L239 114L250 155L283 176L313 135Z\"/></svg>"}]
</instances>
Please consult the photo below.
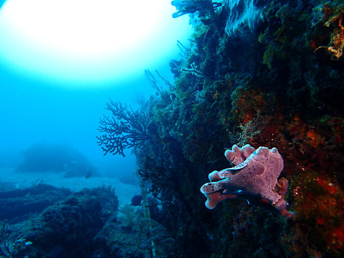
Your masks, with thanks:
<instances>
[{"instance_id":1,"label":"dark fan-shaped branching coral silhouetted against blue water","mask_svg":"<svg viewBox=\"0 0 344 258\"><path fill-rule=\"evenodd\" d=\"M98 144L102 146L106 155L108 152L121 154L123 151L132 148L142 141L149 140L147 134L147 115L140 111L134 111L131 106L123 105L120 102L106 103L107 110L112 112L112 116L101 118L98 130L105 133L98 137Z\"/></svg>"}]
</instances>

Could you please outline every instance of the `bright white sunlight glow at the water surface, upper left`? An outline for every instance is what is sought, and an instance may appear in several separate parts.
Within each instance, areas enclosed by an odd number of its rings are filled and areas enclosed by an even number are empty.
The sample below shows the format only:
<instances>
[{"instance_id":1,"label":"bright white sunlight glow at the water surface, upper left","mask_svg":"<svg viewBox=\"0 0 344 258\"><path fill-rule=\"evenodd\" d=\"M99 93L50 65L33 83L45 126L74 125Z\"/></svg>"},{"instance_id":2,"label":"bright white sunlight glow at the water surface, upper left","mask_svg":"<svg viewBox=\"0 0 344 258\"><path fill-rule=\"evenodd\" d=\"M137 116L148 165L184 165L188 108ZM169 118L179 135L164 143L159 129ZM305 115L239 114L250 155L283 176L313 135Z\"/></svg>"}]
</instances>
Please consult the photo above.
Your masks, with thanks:
<instances>
[{"instance_id":1,"label":"bright white sunlight glow at the water surface, upper left","mask_svg":"<svg viewBox=\"0 0 344 258\"><path fill-rule=\"evenodd\" d=\"M19 73L53 80L143 73L190 33L173 12L167 0L7 0L0 59Z\"/></svg>"}]
</instances>

